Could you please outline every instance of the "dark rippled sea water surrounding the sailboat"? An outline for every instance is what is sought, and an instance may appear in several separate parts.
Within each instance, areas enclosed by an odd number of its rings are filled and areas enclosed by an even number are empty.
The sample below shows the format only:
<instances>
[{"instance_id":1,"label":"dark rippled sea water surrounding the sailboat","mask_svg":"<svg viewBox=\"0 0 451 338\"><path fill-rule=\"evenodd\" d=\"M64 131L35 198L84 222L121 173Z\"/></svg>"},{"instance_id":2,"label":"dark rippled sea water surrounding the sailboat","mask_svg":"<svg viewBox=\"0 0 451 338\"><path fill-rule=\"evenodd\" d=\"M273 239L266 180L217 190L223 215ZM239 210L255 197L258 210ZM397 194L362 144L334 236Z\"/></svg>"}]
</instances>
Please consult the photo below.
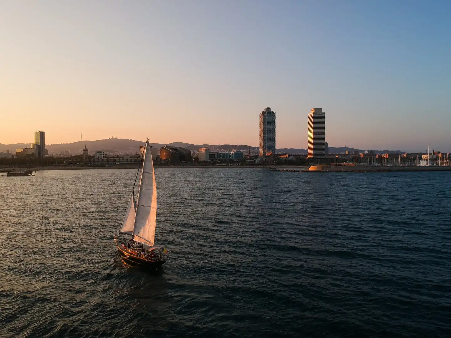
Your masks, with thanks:
<instances>
[{"instance_id":1,"label":"dark rippled sea water surrounding the sailboat","mask_svg":"<svg viewBox=\"0 0 451 338\"><path fill-rule=\"evenodd\" d=\"M0 177L1 337L451 337L451 173L156 176L159 276L112 240L135 170Z\"/></svg>"}]
</instances>

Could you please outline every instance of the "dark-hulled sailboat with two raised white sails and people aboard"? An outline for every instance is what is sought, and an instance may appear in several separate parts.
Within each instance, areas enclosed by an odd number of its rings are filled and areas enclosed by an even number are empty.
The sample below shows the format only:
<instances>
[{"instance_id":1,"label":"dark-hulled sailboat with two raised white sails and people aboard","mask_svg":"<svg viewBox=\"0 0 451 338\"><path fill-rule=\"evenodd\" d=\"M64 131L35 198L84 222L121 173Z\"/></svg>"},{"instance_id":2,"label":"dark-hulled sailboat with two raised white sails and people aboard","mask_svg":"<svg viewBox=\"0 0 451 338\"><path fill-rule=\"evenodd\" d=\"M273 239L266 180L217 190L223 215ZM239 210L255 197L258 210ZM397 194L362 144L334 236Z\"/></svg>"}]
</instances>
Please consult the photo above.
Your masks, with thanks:
<instances>
[{"instance_id":1,"label":"dark-hulled sailboat with two raised white sails and people aboard","mask_svg":"<svg viewBox=\"0 0 451 338\"><path fill-rule=\"evenodd\" d=\"M151 146L147 138L143 151L143 168L139 179L138 198L134 187L125 211L124 220L114 240L119 254L130 263L161 266L166 262L166 249L155 245L156 183Z\"/></svg>"}]
</instances>

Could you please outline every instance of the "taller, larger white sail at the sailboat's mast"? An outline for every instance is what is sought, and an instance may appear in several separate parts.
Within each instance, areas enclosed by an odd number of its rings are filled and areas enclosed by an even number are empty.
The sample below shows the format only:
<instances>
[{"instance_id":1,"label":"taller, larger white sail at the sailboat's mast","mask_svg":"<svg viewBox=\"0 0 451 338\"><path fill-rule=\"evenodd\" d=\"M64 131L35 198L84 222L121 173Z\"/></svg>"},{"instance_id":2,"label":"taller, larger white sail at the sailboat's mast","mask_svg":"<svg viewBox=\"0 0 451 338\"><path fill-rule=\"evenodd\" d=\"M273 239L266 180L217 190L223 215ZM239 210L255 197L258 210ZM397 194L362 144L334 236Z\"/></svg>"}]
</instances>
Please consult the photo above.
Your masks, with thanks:
<instances>
[{"instance_id":1,"label":"taller, larger white sail at the sailboat's mast","mask_svg":"<svg viewBox=\"0 0 451 338\"><path fill-rule=\"evenodd\" d=\"M143 169L139 180L138 202L133 228L133 240L152 246L156 227L156 183L149 141L143 153Z\"/></svg>"}]
</instances>

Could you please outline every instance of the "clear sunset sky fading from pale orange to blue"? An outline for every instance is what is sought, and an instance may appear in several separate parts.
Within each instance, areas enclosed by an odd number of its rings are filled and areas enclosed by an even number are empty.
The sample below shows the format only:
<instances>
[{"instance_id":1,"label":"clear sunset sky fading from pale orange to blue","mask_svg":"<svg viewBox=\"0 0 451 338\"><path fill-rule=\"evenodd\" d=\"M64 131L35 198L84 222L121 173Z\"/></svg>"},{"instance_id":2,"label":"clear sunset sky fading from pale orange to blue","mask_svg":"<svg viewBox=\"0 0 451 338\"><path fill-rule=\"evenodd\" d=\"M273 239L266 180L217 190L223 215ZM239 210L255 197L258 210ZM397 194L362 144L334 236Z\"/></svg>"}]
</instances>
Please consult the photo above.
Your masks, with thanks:
<instances>
[{"instance_id":1,"label":"clear sunset sky fading from pale orange to blue","mask_svg":"<svg viewBox=\"0 0 451 338\"><path fill-rule=\"evenodd\" d=\"M0 0L0 143L451 151L451 2Z\"/></svg>"}]
</instances>

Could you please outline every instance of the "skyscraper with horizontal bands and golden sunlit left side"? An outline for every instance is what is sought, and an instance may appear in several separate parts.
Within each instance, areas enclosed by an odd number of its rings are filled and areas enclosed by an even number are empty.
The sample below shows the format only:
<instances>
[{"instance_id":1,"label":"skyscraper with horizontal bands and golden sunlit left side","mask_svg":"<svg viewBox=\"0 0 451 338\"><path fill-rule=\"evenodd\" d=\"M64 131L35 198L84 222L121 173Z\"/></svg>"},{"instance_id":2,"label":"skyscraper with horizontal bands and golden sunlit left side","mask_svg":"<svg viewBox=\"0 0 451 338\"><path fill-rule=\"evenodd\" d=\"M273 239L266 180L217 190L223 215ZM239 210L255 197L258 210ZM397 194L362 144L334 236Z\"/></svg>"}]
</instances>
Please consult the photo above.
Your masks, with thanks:
<instances>
[{"instance_id":1,"label":"skyscraper with horizontal bands and golden sunlit left side","mask_svg":"<svg viewBox=\"0 0 451 338\"><path fill-rule=\"evenodd\" d=\"M312 108L308 114L308 157L325 157L326 114Z\"/></svg>"}]
</instances>

